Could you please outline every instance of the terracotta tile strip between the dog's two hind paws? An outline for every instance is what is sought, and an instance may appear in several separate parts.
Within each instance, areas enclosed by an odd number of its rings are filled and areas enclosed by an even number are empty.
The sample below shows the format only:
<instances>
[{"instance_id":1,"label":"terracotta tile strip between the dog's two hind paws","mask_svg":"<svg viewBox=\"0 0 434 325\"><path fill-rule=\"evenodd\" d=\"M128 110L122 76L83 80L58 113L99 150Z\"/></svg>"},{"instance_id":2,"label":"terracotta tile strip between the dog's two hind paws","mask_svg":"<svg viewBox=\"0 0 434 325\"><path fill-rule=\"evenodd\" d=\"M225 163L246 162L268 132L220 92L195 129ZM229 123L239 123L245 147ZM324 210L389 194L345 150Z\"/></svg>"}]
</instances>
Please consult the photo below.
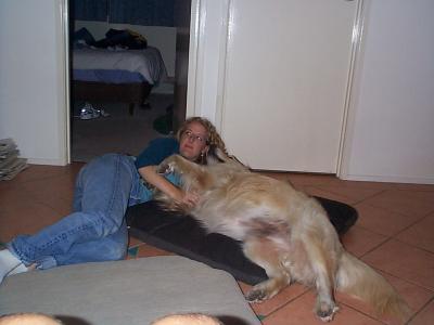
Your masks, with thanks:
<instances>
[{"instance_id":1,"label":"terracotta tile strip between the dog's two hind paws","mask_svg":"<svg viewBox=\"0 0 434 325\"><path fill-rule=\"evenodd\" d=\"M239 282L240 288L243 294L247 294L252 286L246 285L242 282ZM275 312L282 306L286 304L289 301L295 299L296 297L303 295L308 290L307 287L302 286L299 284L293 284L288 286L285 289L280 291L278 295L272 297L271 299L264 301L261 303L252 303L251 307L257 315L267 316L270 313Z\"/></svg>"}]
</instances>

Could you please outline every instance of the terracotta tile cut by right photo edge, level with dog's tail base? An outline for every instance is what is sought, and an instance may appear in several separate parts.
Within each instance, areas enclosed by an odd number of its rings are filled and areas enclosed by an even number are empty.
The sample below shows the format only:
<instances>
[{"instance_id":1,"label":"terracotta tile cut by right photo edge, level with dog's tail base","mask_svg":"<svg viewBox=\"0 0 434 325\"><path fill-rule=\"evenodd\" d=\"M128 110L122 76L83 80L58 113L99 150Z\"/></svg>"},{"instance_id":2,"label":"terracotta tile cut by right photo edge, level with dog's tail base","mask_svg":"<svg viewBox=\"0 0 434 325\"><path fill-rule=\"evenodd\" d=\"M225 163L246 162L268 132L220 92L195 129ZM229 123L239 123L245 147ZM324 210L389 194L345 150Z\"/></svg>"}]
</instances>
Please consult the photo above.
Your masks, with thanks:
<instances>
[{"instance_id":1,"label":"terracotta tile cut by right photo edge, level with dog's tail base","mask_svg":"<svg viewBox=\"0 0 434 325\"><path fill-rule=\"evenodd\" d=\"M432 252L392 239L367 253L362 260L388 274L434 290Z\"/></svg>"}]
</instances>

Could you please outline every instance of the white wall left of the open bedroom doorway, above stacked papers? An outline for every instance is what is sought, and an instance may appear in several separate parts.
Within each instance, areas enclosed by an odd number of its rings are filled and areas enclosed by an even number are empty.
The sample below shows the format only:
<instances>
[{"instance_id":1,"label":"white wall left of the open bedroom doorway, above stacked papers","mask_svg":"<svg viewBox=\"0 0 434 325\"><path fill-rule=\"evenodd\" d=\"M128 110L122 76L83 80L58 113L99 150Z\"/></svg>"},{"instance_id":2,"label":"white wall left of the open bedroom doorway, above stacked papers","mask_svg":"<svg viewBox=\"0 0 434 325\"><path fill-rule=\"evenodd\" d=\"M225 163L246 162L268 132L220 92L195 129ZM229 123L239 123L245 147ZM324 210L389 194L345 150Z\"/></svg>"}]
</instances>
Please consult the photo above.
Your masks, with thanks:
<instances>
[{"instance_id":1,"label":"white wall left of the open bedroom doorway, above stacked papers","mask_svg":"<svg viewBox=\"0 0 434 325\"><path fill-rule=\"evenodd\" d=\"M34 164L66 164L61 3L0 1L0 138Z\"/></svg>"}]
</instances>

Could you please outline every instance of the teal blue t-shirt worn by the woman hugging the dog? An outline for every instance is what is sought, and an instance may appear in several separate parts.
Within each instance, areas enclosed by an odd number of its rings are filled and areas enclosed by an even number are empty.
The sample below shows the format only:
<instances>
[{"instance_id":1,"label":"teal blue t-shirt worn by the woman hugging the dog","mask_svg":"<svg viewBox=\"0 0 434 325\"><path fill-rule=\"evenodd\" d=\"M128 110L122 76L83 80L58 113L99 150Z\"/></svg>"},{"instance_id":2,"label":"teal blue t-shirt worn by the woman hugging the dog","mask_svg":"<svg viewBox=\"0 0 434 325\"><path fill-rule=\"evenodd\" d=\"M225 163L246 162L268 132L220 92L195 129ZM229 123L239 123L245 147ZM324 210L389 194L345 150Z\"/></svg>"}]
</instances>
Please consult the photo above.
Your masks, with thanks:
<instances>
[{"instance_id":1,"label":"teal blue t-shirt worn by the woman hugging the dog","mask_svg":"<svg viewBox=\"0 0 434 325\"><path fill-rule=\"evenodd\" d=\"M179 154L179 142L174 138L157 138L152 140L149 145L136 158L136 168L146 166L157 166L168 156ZM176 173L168 173L164 176L170 183L179 186L180 178ZM152 199L153 192L149 186L143 184L141 190L141 200L146 202Z\"/></svg>"}]
</instances>

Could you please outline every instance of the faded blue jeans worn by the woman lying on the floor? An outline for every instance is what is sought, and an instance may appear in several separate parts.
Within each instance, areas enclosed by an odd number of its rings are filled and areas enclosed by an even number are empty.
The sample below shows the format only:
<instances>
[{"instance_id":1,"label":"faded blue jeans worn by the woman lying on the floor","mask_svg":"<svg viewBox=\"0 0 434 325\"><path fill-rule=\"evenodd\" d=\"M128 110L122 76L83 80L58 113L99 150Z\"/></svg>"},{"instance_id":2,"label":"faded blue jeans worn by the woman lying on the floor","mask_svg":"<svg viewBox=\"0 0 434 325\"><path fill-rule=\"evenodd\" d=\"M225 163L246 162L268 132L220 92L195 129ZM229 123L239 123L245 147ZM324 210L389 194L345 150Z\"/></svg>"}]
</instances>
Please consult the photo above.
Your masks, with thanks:
<instances>
[{"instance_id":1,"label":"faded blue jeans worn by the woman lying on the floor","mask_svg":"<svg viewBox=\"0 0 434 325\"><path fill-rule=\"evenodd\" d=\"M7 247L25 265L37 269L125 258L128 232L125 211L151 199L133 158L107 154L79 172L73 213L35 235L20 235Z\"/></svg>"}]
</instances>

